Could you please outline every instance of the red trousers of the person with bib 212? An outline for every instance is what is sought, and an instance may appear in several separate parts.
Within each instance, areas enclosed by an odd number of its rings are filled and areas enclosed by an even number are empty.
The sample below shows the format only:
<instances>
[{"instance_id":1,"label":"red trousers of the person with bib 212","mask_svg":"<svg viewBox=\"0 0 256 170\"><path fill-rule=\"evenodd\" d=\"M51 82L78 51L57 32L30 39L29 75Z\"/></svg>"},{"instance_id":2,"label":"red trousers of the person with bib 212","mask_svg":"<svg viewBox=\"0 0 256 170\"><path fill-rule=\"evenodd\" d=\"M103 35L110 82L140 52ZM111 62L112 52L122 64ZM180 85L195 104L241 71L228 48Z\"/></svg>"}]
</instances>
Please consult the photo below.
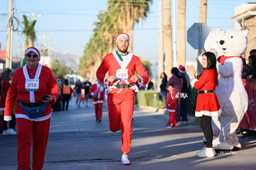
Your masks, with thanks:
<instances>
[{"instance_id":1,"label":"red trousers of the person with bib 212","mask_svg":"<svg viewBox=\"0 0 256 170\"><path fill-rule=\"evenodd\" d=\"M31 142L33 142L32 169L43 169L50 119L36 122L28 119L17 118L16 122L18 138L18 169L30 170Z\"/></svg>"}]
</instances>

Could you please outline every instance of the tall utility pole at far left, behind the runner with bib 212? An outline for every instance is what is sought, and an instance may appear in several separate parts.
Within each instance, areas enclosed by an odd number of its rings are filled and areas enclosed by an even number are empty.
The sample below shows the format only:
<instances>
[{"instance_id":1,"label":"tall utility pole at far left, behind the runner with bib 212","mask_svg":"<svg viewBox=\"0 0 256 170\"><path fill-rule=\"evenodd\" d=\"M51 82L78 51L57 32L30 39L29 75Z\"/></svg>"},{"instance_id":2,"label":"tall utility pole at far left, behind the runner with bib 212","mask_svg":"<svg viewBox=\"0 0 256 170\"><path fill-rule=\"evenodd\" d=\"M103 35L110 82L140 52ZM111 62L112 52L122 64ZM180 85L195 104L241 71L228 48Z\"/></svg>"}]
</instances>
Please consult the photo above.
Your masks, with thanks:
<instances>
[{"instance_id":1,"label":"tall utility pole at far left, behind the runner with bib 212","mask_svg":"<svg viewBox=\"0 0 256 170\"><path fill-rule=\"evenodd\" d=\"M9 15L8 15L8 25L7 25L7 48L6 48L6 68L12 69L12 18L14 16L14 11L12 8L12 0L9 4Z\"/></svg>"}]
</instances>

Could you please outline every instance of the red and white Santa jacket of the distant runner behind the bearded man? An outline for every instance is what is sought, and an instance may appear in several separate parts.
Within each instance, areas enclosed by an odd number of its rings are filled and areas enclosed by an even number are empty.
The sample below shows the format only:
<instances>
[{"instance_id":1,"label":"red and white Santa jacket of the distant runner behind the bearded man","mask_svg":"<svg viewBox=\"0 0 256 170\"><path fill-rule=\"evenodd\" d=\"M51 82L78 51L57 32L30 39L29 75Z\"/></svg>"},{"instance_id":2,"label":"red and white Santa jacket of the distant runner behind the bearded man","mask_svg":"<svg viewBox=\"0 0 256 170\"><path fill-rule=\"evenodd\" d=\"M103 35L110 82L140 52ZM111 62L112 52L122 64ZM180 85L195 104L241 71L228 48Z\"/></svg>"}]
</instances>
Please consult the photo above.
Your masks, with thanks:
<instances>
[{"instance_id":1,"label":"red and white Santa jacket of the distant runner behind the bearded man","mask_svg":"<svg viewBox=\"0 0 256 170\"><path fill-rule=\"evenodd\" d=\"M100 83L95 83L89 90L90 95L95 96L93 98L93 104L104 102L105 88Z\"/></svg>"}]
</instances>

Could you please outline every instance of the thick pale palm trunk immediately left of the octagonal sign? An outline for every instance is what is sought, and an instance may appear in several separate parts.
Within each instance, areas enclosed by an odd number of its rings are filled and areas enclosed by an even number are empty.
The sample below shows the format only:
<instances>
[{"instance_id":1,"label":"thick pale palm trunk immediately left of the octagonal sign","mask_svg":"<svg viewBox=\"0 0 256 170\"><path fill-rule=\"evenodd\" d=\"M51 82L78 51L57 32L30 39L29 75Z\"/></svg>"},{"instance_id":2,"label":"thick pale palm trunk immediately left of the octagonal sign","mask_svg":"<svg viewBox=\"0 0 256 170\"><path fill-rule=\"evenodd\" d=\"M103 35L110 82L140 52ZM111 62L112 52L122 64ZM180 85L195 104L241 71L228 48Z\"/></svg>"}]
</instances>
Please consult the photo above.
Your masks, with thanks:
<instances>
[{"instance_id":1,"label":"thick pale palm trunk immediately left of the octagonal sign","mask_svg":"<svg viewBox=\"0 0 256 170\"><path fill-rule=\"evenodd\" d=\"M186 65L186 0L178 1L177 66Z\"/></svg>"}]
</instances>

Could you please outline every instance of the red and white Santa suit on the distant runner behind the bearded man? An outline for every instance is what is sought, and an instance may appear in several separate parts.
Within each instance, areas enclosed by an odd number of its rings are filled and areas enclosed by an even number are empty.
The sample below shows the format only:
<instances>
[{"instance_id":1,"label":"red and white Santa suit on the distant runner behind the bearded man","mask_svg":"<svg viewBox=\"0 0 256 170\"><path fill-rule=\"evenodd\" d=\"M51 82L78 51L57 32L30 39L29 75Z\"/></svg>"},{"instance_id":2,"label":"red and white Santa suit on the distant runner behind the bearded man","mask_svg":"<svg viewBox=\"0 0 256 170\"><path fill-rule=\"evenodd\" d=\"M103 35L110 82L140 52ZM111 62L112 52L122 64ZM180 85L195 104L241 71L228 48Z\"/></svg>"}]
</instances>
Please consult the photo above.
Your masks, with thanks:
<instances>
[{"instance_id":1,"label":"red and white Santa suit on the distant runner behind the bearded man","mask_svg":"<svg viewBox=\"0 0 256 170\"><path fill-rule=\"evenodd\" d=\"M96 98L93 98L93 104L95 107L95 117L96 117L96 119L101 119L105 89L102 85L100 85L100 83L95 83L90 88L89 93L92 96L94 96L94 95L96 96Z\"/></svg>"}]
</instances>

